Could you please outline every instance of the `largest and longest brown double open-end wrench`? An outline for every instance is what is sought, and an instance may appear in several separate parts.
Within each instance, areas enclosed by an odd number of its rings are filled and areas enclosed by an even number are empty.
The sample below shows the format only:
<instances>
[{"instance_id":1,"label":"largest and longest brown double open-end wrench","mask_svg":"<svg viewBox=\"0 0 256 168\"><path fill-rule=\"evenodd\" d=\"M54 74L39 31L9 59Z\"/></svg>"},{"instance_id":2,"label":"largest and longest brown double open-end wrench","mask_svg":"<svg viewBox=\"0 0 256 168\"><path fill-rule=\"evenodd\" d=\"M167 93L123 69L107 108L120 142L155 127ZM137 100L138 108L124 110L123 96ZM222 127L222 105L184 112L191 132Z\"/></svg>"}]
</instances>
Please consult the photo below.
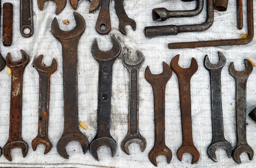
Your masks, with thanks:
<instances>
[{"instance_id":1,"label":"largest and longest brown double open-end wrench","mask_svg":"<svg viewBox=\"0 0 256 168\"><path fill-rule=\"evenodd\" d=\"M52 20L52 34L62 45L64 131L58 140L57 151L65 159L68 159L66 145L70 141L80 142L84 154L88 149L87 137L79 130L77 87L77 46L85 30L85 20L79 13L73 12L73 14L76 27L70 31L61 30L56 17Z\"/></svg>"}]
</instances>

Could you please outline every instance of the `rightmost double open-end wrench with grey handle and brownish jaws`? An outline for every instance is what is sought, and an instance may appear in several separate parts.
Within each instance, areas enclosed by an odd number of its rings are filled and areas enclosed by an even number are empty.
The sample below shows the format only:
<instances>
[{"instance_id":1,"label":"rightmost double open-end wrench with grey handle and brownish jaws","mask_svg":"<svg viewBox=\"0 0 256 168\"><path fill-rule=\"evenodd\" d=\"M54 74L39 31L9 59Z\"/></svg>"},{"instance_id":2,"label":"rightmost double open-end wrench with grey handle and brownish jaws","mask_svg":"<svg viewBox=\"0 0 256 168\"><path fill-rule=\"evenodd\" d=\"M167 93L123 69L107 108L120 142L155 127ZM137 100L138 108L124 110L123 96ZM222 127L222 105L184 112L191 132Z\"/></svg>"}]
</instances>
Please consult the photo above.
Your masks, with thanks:
<instances>
[{"instance_id":1,"label":"rightmost double open-end wrench with grey handle and brownish jaws","mask_svg":"<svg viewBox=\"0 0 256 168\"><path fill-rule=\"evenodd\" d=\"M233 149L233 158L236 162L241 163L240 155L243 152L248 154L249 159L253 159L253 148L246 140L246 84L249 75L253 71L253 65L249 60L244 59L245 69L237 71L234 63L230 63L230 75L236 80L236 133L237 143Z\"/></svg>"}]
</instances>

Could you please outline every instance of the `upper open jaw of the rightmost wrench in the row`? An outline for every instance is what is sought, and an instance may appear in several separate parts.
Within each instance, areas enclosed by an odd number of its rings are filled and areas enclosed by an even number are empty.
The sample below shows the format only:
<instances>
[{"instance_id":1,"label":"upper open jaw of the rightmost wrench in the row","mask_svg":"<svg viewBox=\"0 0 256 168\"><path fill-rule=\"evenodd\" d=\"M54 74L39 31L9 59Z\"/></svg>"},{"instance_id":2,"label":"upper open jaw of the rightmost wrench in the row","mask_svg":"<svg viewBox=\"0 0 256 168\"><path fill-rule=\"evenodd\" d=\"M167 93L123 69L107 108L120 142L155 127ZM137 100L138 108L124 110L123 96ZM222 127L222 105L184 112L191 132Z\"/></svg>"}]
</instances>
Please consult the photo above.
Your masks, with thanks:
<instances>
[{"instance_id":1,"label":"upper open jaw of the rightmost wrench in the row","mask_svg":"<svg viewBox=\"0 0 256 168\"><path fill-rule=\"evenodd\" d=\"M234 63L233 62L230 63L230 74L231 74L231 76L233 76L235 78L246 78L246 77L249 77L249 75L253 71L253 65L247 59L244 59L244 64L245 64L245 69L243 71L237 71L235 69Z\"/></svg>"}]
</instances>

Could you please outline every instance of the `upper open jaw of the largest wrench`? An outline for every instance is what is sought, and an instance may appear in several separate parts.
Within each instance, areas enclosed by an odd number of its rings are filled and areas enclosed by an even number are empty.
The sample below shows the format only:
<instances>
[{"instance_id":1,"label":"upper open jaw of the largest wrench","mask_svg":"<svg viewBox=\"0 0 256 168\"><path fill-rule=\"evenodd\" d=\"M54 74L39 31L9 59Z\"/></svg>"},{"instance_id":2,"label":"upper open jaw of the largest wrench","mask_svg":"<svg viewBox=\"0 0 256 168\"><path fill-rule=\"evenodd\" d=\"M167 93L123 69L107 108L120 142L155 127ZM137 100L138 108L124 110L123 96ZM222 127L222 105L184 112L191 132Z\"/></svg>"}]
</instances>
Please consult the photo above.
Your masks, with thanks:
<instances>
[{"instance_id":1,"label":"upper open jaw of the largest wrench","mask_svg":"<svg viewBox=\"0 0 256 168\"><path fill-rule=\"evenodd\" d=\"M73 28L70 31L64 31L61 30L59 25L58 25L58 20L55 17L52 20L52 34L59 40L67 40L67 39L73 39L75 37L80 37L85 30L85 20L84 18L81 16L81 14L73 11L74 14L74 18L76 20L76 27Z\"/></svg>"}]
</instances>

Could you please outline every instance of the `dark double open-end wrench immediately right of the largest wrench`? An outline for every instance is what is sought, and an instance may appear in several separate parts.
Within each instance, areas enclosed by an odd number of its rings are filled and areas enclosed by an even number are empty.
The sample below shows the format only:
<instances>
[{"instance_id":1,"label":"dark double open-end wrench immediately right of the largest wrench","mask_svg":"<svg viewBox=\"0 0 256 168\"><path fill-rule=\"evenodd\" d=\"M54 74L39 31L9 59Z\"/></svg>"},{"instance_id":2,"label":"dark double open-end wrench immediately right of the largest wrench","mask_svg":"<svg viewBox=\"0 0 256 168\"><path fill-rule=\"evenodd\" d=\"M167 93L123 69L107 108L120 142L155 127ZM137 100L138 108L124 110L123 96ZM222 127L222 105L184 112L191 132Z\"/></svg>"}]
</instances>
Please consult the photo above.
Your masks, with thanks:
<instances>
[{"instance_id":1,"label":"dark double open-end wrench immediately right of the largest wrench","mask_svg":"<svg viewBox=\"0 0 256 168\"><path fill-rule=\"evenodd\" d=\"M97 150L101 146L108 146L111 156L116 153L116 141L110 134L110 112L112 94L112 72L113 63L121 52L121 45L111 35L113 47L109 51L99 49L97 39L93 41L92 54L99 64L99 91L97 110L97 133L90 143L90 152L94 159L99 161Z\"/></svg>"}]
</instances>

